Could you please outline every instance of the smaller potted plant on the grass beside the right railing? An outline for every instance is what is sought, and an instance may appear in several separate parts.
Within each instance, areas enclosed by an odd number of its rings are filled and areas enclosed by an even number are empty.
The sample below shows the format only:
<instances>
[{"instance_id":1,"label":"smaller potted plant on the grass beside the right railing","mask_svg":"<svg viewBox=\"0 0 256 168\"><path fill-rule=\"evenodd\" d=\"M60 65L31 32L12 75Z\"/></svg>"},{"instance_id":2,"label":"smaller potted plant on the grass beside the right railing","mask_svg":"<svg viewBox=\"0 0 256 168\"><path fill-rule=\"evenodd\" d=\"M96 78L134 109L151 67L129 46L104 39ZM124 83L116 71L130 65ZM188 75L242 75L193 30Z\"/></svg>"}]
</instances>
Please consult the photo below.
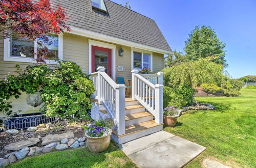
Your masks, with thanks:
<instances>
[{"instance_id":1,"label":"smaller potted plant on the grass beside the right railing","mask_svg":"<svg viewBox=\"0 0 256 168\"><path fill-rule=\"evenodd\" d=\"M173 106L163 109L163 123L168 127L174 127L179 116L178 109Z\"/></svg>"}]
</instances>

